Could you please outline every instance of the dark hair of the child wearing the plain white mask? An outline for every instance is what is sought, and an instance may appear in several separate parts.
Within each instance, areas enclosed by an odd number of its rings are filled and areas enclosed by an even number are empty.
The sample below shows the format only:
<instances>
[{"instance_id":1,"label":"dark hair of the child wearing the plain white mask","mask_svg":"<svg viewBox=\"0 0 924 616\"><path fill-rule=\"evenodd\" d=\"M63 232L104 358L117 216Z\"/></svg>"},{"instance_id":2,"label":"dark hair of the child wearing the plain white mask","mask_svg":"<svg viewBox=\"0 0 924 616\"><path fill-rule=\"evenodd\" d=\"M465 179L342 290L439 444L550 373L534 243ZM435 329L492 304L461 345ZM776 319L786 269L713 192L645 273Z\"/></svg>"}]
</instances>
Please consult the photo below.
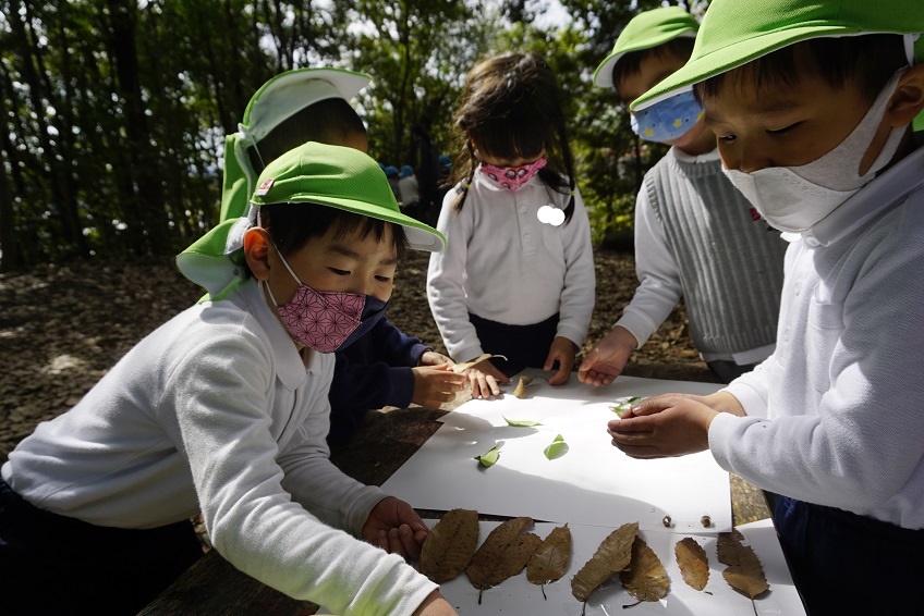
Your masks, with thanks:
<instances>
[{"instance_id":1,"label":"dark hair of the child wearing the plain white mask","mask_svg":"<svg viewBox=\"0 0 924 616\"><path fill-rule=\"evenodd\" d=\"M904 41L897 34L813 38L783 47L733 72L735 87L787 87L804 75L840 89L855 83L866 100L875 100L896 71L908 64ZM728 82L722 73L693 86L701 101L715 97Z\"/></svg>"}]
</instances>

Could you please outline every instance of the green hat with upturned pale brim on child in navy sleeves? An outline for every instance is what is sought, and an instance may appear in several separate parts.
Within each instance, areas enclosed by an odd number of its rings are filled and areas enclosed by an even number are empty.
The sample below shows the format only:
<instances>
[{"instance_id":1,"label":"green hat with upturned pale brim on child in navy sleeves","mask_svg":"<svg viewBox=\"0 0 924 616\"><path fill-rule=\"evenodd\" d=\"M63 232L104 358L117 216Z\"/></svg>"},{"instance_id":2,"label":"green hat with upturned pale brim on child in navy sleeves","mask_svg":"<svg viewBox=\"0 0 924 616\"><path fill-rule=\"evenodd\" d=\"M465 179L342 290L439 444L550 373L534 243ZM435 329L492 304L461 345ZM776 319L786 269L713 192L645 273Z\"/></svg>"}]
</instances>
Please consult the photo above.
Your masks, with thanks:
<instances>
[{"instance_id":1,"label":"green hat with upturned pale brim on child in navy sleeves","mask_svg":"<svg viewBox=\"0 0 924 616\"><path fill-rule=\"evenodd\" d=\"M369 85L369 76L341 69L295 69L276 75L251 97L238 133L224 138L221 220L247 212L257 174L247 148L303 109L330 98L349 101Z\"/></svg>"}]
</instances>

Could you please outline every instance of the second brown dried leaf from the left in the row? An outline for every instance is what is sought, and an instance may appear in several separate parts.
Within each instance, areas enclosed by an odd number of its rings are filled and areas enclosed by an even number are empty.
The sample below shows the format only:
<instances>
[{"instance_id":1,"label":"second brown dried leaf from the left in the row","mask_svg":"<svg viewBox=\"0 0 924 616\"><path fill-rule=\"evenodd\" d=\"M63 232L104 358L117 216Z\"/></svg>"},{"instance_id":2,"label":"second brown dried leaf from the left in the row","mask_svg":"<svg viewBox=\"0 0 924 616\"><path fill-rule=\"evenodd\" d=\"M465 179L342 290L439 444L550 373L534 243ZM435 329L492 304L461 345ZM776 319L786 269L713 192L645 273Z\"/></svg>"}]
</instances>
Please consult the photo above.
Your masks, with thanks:
<instances>
[{"instance_id":1,"label":"second brown dried leaf from the left in the row","mask_svg":"<svg viewBox=\"0 0 924 616\"><path fill-rule=\"evenodd\" d=\"M523 570L543 542L533 533L521 534L524 528L532 525L533 518L513 518L488 534L465 568L473 587L486 590ZM531 535L535 539L531 539Z\"/></svg>"}]
</instances>

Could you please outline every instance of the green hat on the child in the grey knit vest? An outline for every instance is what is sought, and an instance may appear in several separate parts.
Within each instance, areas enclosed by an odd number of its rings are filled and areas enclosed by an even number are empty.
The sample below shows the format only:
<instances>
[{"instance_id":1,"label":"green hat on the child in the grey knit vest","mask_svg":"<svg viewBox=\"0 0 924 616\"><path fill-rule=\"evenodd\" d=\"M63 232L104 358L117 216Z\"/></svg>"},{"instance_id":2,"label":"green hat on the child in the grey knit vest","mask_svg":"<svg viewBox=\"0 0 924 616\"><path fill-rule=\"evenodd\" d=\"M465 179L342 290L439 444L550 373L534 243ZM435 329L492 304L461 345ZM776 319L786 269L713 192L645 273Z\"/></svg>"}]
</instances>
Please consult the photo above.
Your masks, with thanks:
<instances>
[{"instance_id":1,"label":"green hat on the child in the grey knit vest","mask_svg":"<svg viewBox=\"0 0 924 616\"><path fill-rule=\"evenodd\" d=\"M677 37L695 38L700 23L680 7L655 9L639 13L625 24L612 52L600 62L594 73L594 83L605 88L613 87L612 67L630 51L641 51L664 45Z\"/></svg>"}]
</instances>

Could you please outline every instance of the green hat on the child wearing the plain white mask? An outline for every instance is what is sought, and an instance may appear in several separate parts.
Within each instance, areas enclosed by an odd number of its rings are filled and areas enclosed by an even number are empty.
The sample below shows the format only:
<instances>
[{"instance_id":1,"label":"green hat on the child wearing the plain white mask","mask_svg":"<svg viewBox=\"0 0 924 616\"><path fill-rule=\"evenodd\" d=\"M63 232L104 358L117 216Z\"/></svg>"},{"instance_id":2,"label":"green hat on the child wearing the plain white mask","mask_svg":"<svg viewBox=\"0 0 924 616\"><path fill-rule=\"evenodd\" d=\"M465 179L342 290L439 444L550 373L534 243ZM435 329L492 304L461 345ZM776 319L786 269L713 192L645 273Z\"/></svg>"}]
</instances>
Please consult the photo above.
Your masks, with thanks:
<instances>
[{"instance_id":1,"label":"green hat on the child wearing the plain white mask","mask_svg":"<svg viewBox=\"0 0 924 616\"><path fill-rule=\"evenodd\" d=\"M713 0L690 60L632 101L631 109L645 109L691 89L695 83L801 40L922 32L922 0ZM913 36L905 38L909 61L912 41Z\"/></svg>"}]
</instances>

